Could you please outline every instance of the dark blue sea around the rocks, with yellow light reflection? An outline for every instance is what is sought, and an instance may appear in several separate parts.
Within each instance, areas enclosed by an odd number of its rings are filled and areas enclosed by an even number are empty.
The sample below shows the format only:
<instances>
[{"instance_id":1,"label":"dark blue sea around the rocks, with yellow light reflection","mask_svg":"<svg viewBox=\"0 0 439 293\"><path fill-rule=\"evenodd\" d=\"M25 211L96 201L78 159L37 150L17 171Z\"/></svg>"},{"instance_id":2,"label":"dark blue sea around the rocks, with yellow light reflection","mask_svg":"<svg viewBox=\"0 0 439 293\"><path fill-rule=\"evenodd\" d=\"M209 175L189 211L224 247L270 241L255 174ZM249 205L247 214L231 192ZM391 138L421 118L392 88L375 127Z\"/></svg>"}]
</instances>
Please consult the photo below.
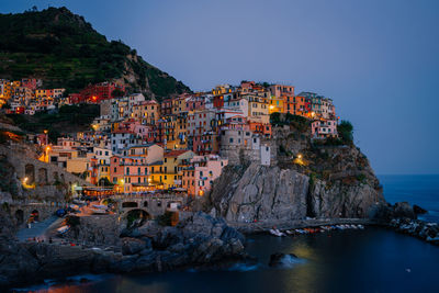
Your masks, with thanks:
<instances>
[{"instance_id":1,"label":"dark blue sea around the rocks, with yellow light reflection","mask_svg":"<svg viewBox=\"0 0 439 293\"><path fill-rule=\"evenodd\" d=\"M439 223L439 176L380 176L384 196L426 210ZM439 247L393 230L367 227L278 238L249 236L255 266L137 275L77 275L22 289L33 292L439 292ZM274 252L294 253L282 268ZM80 281L87 279L88 281Z\"/></svg>"}]
</instances>

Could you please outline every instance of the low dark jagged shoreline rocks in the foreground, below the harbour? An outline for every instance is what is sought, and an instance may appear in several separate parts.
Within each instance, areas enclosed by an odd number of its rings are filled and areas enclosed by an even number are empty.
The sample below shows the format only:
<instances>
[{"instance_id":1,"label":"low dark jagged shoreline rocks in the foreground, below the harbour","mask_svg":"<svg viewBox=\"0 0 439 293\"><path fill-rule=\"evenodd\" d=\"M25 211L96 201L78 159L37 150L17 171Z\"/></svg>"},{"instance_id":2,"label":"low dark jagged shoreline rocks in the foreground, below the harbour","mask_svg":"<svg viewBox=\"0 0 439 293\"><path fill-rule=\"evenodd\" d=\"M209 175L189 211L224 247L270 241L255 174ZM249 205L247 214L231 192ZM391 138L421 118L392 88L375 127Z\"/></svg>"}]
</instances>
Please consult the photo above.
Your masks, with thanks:
<instances>
[{"instance_id":1,"label":"low dark jagged shoreline rocks in the foreground, below the harbour","mask_svg":"<svg viewBox=\"0 0 439 293\"><path fill-rule=\"evenodd\" d=\"M195 213L176 227L150 221L121 239L121 252L44 243L0 244L0 289L77 273L204 268L246 260L244 236L224 219Z\"/></svg>"}]
</instances>

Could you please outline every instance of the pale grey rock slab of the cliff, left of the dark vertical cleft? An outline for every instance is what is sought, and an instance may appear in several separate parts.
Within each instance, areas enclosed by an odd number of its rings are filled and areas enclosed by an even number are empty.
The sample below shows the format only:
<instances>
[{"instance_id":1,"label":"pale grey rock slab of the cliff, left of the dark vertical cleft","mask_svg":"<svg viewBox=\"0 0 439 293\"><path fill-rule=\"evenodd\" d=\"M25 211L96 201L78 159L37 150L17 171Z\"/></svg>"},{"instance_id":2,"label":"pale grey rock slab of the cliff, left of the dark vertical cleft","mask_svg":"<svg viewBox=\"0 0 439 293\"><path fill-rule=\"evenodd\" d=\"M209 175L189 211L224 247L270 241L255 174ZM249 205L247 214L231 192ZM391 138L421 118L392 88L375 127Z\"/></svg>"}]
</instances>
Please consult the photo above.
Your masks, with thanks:
<instances>
[{"instance_id":1,"label":"pale grey rock slab of the cliff, left of the dark vertical cleft","mask_svg":"<svg viewBox=\"0 0 439 293\"><path fill-rule=\"evenodd\" d=\"M303 218L308 180L292 169L251 164L240 176L230 167L219 178L212 199L229 222Z\"/></svg>"}]
</instances>

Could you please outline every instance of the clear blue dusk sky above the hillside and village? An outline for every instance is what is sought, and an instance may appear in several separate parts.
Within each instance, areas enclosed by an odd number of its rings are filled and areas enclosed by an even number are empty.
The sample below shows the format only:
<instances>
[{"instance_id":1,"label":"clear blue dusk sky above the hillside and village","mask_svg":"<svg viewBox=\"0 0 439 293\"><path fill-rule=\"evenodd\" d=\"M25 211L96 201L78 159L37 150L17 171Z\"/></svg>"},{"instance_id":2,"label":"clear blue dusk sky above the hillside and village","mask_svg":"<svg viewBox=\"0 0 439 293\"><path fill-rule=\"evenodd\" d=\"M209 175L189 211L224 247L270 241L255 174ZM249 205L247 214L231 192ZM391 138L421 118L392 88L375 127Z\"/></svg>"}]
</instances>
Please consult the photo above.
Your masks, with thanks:
<instances>
[{"instance_id":1,"label":"clear blue dusk sky above the hillside and village","mask_svg":"<svg viewBox=\"0 0 439 293\"><path fill-rule=\"evenodd\" d=\"M439 1L1 0L66 5L192 90L243 79L331 98L378 174L439 173Z\"/></svg>"}]
</instances>

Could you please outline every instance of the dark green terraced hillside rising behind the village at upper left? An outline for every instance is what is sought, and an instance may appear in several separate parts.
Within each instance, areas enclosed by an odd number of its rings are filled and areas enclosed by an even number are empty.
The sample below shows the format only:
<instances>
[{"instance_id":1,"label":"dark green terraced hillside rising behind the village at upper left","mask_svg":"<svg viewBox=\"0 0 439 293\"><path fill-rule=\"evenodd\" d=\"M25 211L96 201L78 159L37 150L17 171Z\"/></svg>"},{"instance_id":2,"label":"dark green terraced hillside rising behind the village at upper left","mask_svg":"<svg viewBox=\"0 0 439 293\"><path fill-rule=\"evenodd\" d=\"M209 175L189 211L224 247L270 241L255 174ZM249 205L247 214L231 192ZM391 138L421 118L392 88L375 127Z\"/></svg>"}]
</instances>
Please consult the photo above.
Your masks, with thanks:
<instances>
[{"instance_id":1,"label":"dark green terraced hillside rising behind the village at upper left","mask_svg":"<svg viewBox=\"0 0 439 293\"><path fill-rule=\"evenodd\" d=\"M42 78L44 87L69 92L112 79L157 98L190 91L67 8L0 14L0 78Z\"/></svg>"}]
</instances>

